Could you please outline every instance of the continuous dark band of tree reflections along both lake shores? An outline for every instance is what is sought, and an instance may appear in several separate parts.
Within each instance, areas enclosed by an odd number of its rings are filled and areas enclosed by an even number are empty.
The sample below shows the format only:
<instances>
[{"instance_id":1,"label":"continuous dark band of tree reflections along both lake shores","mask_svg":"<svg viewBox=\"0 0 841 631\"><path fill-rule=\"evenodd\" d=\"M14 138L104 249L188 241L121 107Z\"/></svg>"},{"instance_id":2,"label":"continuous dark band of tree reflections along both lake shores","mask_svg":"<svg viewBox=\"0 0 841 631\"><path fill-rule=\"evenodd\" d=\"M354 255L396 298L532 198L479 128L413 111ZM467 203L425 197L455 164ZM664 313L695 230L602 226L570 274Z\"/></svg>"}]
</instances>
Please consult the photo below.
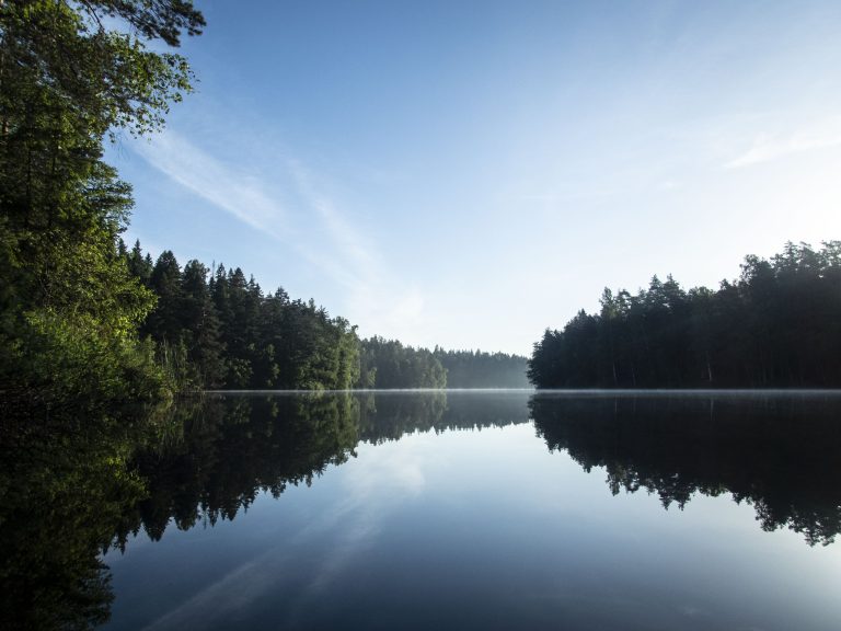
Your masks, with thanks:
<instances>
[{"instance_id":1,"label":"continuous dark band of tree reflections along both lake shores","mask_svg":"<svg viewBox=\"0 0 841 631\"><path fill-rule=\"evenodd\" d=\"M550 450L567 451L586 470L604 467L613 493L645 489L667 507L694 493L730 493L753 506L764 529L831 542L841 531L838 395L692 394L207 395L146 424L77 422L66 436L9 439L0 444L0 619L14 617L19 628L105 620L113 594L104 549L133 544L140 530L158 540L173 527L234 519L262 493L277 498L312 484L360 441L530 418ZM80 601L89 603L83 611Z\"/></svg>"}]
</instances>

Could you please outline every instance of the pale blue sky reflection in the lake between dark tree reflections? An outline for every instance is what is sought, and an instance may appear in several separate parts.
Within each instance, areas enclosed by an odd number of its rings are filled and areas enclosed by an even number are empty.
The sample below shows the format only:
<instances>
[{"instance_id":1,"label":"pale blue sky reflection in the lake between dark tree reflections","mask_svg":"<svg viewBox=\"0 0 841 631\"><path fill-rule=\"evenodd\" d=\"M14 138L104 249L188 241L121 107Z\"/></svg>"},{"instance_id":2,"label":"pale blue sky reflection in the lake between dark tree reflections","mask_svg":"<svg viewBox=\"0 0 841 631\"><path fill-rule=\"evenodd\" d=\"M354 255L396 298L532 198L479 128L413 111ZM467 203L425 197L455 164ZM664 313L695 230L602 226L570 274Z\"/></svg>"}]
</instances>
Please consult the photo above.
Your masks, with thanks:
<instances>
[{"instance_id":1,"label":"pale blue sky reflection in the lake between dark tree reflections","mask_svg":"<svg viewBox=\"0 0 841 631\"><path fill-rule=\"evenodd\" d=\"M841 628L841 547L763 532L727 494L614 497L530 423L356 451L233 521L110 553L111 627Z\"/></svg>"}]
</instances>

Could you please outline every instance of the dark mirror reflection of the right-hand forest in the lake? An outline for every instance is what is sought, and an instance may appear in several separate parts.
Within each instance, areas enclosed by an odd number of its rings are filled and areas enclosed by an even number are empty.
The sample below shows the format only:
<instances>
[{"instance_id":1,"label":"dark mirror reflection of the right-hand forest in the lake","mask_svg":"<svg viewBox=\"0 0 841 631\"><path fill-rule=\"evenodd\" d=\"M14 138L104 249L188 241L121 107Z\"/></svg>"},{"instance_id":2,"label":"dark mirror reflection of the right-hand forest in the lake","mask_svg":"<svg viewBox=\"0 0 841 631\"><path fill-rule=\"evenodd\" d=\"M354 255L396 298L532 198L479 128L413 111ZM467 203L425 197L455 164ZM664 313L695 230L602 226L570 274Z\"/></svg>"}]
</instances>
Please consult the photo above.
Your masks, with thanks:
<instances>
[{"instance_id":1,"label":"dark mirror reflection of the right-hand forest in the lake","mask_svg":"<svg viewBox=\"0 0 841 631\"><path fill-rule=\"evenodd\" d=\"M841 531L837 399L535 395L529 406L550 450L604 467L613 494L645 489L668 508L729 492L764 530L785 526L809 544Z\"/></svg>"}]
</instances>

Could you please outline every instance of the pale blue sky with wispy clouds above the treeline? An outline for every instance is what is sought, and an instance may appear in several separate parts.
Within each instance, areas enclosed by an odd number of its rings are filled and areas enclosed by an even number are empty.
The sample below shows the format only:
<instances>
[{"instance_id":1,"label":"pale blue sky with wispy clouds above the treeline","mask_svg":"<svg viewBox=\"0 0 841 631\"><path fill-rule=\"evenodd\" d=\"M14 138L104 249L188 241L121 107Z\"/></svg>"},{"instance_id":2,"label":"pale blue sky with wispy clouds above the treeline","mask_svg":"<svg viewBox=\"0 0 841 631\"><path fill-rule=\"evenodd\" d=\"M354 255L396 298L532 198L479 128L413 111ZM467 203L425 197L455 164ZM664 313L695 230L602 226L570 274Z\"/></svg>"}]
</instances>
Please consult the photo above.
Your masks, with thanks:
<instances>
[{"instance_id":1,"label":"pale blue sky with wispy clouds above the treeline","mask_svg":"<svg viewBox=\"0 0 841 631\"><path fill-rule=\"evenodd\" d=\"M606 286L841 238L841 3L198 1L108 159L127 239L407 344L529 354Z\"/></svg>"}]
</instances>

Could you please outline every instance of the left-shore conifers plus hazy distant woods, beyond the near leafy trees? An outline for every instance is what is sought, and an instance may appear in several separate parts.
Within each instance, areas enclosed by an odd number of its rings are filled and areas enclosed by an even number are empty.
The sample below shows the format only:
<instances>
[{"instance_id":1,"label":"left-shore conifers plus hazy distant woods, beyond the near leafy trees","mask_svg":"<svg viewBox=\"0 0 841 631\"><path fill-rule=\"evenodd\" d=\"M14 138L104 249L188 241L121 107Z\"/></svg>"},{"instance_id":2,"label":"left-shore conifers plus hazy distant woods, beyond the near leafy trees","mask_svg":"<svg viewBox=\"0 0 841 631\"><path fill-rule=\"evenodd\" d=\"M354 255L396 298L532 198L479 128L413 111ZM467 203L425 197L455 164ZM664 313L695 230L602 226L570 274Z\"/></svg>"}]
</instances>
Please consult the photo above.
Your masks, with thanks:
<instances>
[{"instance_id":1,"label":"left-shore conifers plus hazy distant woods, beyond the near leafy trees","mask_svg":"<svg viewBox=\"0 0 841 631\"><path fill-rule=\"evenodd\" d=\"M163 252L155 262L120 241L131 276L157 298L139 333L158 348L170 377L189 388L517 388L528 387L527 359L503 353L414 348L394 340L360 340L356 326L313 300L278 288L264 294L239 267L182 268Z\"/></svg>"}]
</instances>

